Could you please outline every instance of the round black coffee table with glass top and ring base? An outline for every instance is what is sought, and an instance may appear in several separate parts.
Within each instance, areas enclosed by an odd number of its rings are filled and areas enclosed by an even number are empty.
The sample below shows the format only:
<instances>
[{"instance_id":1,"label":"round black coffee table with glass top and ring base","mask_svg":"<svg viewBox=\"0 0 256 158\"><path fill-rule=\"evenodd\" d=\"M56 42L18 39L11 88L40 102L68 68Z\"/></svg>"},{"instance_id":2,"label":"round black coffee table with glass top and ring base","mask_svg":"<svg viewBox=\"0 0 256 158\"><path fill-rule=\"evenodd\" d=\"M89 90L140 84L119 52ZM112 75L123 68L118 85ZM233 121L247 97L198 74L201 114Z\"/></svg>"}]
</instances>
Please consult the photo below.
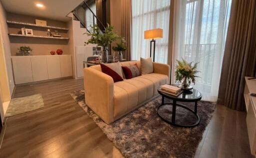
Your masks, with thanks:
<instances>
[{"instance_id":1,"label":"round black coffee table with glass top and ring base","mask_svg":"<svg viewBox=\"0 0 256 158\"><path fill-rule=\"evenodd\" d=\"M157 91L162 96L162 102L161 102L161 105L159 105L156 108L156 113L158 114L158 116L163 121L165 121L166 123L168 123L170 125L177 126L177 127L194 127L194 126L199 124L200 118L197 115L197 101L201 100L201 97L202 97L202 95L201 95L201 93L199 91L197 91L195 89L184 90L179 96L173 96L171 94L164 93L160 89L158 89ZM164 103L164 98L171 99L172 103ZM177 104L176 103L177 101L178 102L194 102L194 110L192 110L192 109L190 109L188 107L185 107L183 105ZM171 120L170 120L170 118L166 119L166 117L162 116L162 114L159 112L160 109L163 108L165 105L172 105ZM195 120L195 123L189 124L189 125L175 123L175 121L176 121L176 107L183 108L182 110L186 110L187 112L189 112L192 115L194 115L195 118L197 119L197 120ZM184 118L185 118L185 116L182 116L181 119L184 119Z\"/></svg>"}]
</instances>

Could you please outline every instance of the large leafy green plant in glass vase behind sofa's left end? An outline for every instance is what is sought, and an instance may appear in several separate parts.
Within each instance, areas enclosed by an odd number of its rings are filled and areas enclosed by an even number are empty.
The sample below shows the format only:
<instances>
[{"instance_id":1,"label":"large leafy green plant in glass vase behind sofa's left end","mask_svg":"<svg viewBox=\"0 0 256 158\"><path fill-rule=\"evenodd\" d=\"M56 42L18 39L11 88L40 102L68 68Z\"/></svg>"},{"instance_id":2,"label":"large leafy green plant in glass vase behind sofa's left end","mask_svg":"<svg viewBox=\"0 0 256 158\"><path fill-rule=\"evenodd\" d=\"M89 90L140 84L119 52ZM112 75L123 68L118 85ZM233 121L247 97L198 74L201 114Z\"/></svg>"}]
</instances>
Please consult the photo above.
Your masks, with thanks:
<instances>
[{"instance_id":1,"label":"large leafy green plant in glass vase behind sofa's left end","mask_svg":"<svg viewBox=\"0 0 256 158\"><path fill-rule=\"evenodd\" d=\"M92 32L85 33L88 36L90 36L90 39L88 39L88 41L85 42L85 44L91 43L91 44L97 44L97 46L101 46L102 47L102 51L101 51L102 62L103 63L108 62L107 48L109 48L109 45L113 41L120 39L120 37L115 32L113 32L113 26L109 25L108 23L103 32L101 32L101 30L99 29L99 27L97 25L92 27L92 30L93 30Z\"/></svg>"}]
</instances>

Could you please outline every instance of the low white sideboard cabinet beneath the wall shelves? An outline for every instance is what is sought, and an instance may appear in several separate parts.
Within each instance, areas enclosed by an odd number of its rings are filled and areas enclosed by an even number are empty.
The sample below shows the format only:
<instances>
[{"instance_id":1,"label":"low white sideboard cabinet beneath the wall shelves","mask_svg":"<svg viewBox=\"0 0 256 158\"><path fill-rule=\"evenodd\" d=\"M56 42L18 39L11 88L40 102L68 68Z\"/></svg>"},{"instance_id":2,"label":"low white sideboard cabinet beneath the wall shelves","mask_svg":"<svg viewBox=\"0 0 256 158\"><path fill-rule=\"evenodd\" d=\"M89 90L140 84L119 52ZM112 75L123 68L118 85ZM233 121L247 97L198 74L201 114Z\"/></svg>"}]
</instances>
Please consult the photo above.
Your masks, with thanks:
<instances>
[{"instance_id":1,"label":"low white sideboard cabinet beneath the wall shelves","mask_svg":"<svg viewBox=\"0 0 256 158\"><path fill-rule=\"evenodd\" d=\"M71 55L12 56L15 84L72 76Z\"/></svg>"}]
</instances>

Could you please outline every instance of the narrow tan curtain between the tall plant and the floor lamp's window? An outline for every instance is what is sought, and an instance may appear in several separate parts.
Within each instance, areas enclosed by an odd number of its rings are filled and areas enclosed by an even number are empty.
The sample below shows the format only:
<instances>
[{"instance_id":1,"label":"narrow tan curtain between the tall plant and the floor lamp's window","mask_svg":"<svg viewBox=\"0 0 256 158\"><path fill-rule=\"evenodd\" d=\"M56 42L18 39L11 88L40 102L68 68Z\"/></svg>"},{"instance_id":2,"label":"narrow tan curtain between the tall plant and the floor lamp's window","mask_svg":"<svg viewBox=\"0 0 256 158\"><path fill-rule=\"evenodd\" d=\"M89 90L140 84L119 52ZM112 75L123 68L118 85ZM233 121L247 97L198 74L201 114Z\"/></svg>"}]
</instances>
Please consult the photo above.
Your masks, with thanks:
<instances>
[{"instance_id":1,"label":"narrow tan curtain between the tall plant and the floor lamp's window","mask_svg":"<svg viewBox=\"0 0 256 158\"><path fill-rule=\"evenodd\" d=\"M131 53L131 0L121 0L121 36L126 40L126 51L123 54L126 61Z\"/></svg>"}]
</instances>

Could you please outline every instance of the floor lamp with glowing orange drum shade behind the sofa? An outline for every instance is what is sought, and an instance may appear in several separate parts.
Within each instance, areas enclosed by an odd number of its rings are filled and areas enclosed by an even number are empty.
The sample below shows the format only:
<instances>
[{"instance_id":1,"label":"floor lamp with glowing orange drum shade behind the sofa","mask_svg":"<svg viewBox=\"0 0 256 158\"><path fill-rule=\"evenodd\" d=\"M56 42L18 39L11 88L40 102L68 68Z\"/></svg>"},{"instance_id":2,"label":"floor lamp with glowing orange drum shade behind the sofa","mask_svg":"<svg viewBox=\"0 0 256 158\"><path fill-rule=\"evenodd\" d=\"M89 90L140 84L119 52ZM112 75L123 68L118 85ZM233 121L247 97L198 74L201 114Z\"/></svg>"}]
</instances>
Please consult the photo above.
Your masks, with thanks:
<instances>
[{"instance_id":1,"label":"floor lamp with glowing orange drum shade behind the sofa","mask_svg":"<svg viewBox=\"0 0 256 158\"><path fill-rule=\"evenodd\" d=\"M151 39L150 40L150 57L152 54L152 44L153 44L153 62L154 62L154 54L155 54L155 39L157 38L162 38L161 28L155 28L155 29L144 31L144 39Z\"/></svg>"}]
</instances>

